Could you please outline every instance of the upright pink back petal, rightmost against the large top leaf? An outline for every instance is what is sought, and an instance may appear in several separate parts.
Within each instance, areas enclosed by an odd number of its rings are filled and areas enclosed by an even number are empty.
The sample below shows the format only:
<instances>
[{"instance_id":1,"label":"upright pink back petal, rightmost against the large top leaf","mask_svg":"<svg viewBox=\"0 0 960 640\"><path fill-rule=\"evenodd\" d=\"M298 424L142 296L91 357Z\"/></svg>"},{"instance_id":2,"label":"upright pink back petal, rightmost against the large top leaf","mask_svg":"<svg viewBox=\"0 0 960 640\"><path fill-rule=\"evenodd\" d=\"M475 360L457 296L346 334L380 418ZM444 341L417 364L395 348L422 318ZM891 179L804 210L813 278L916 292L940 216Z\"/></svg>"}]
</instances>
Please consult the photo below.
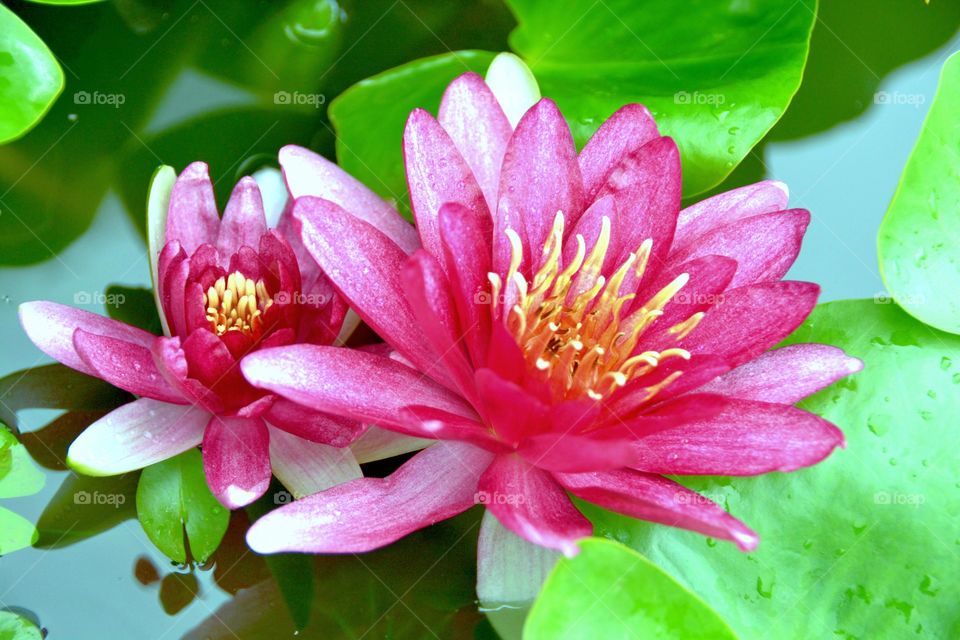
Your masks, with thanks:
<instances>
[{"instance_id":1,"label":"upright pink back petal, rightmost against the large top leaf","mask_svg":"<svg viewBox=\"0 0 960 640\"><path fill-rule=\"evenodd\" d=\"M596 199L620 161L660 137L657 123L646 107L627 104L600 125L580 152L580 172L587 202Z\"/></svg>"}]
</instances>

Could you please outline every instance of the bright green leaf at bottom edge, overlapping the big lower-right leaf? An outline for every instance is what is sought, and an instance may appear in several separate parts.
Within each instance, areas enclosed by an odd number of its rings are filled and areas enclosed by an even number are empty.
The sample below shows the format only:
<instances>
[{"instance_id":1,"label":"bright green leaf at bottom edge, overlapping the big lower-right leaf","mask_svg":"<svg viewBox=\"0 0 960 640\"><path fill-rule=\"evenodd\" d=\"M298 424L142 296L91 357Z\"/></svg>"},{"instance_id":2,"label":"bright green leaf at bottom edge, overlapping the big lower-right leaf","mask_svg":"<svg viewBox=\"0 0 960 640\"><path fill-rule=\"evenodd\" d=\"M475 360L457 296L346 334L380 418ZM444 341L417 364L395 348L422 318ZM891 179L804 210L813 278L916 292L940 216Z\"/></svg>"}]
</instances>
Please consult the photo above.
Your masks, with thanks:
<instances>
[{"instance_id":1,"label":"bright green leaf at bottom edge, overlapping the big lower-right leaf","mask_svg":"<svg viewBox=\"0 0 960 640\"><path fill-rule=\"evenodd\" d=\"M523 637L732 640L697 596L623 545L598 538L561 558L533 605Z\"/></svg>"}]
</instances>

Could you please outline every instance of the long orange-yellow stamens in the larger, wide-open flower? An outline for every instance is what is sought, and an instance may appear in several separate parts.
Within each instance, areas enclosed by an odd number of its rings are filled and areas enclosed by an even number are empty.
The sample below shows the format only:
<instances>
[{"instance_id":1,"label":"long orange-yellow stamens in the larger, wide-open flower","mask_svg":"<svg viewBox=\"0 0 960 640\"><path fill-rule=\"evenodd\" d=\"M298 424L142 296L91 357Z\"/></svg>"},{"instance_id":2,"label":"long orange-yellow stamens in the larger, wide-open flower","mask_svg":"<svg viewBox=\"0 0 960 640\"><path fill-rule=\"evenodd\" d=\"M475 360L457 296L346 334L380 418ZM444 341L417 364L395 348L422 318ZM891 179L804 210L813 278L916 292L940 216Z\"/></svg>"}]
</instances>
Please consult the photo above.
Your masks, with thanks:
<instances>
[{"instance_id":1,"label":"long orange-yellow stamens in the larger, wide-open flower","mask_svg":"<svg viewBox=\"0 0 960 640\"><path fill-rule=\"evenodd\" d=\"M601 274L610 246L610 220L603 218L600 234L589 255L582 235L577 234L577 251L562 263L563 214L558 212L543 247L543 261L532 282L520 273L523 246L513 229L507 229L512 247L506 279L488 274L493 288L494 313L502 304L503 320L523 351L528 364L542 372L556 397L572 399L584 395L601 400L630 380L655 369L666 358L690 359L684 349L635 353L643 332L661 315L663 308L687 283L684 273L642 305L630 306L633 289L640 282L650 258L652 240L644 241L609 276ZM562 268L561 268L562 267ZM621 293L631 278L628 293ZM502 294L502 299L501 299ZM624 315L626 309L630 312ZM677 340L699 323L702 313L691 315L668 329ZM647 387L648 397L673 382L673 372L656 385Z\"/></svg>"}]
</instances>

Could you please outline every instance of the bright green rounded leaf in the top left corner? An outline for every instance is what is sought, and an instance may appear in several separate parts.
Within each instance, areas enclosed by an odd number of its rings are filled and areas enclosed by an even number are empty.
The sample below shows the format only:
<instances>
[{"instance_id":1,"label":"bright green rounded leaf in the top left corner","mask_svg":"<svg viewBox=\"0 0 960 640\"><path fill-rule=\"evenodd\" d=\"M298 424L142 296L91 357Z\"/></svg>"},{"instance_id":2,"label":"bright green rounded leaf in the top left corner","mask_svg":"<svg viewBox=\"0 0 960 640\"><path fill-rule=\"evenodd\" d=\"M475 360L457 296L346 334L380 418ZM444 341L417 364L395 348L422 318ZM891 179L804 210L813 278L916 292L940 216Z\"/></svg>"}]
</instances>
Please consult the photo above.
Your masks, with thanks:
<instances>
[{"instance_id":1,"label":"bright green rounded leaf in the top left corner","mask_svg":"<svg viewBox=\"0 0 960 640\"><path fill-rule=\"evenodd\" d=\"M0 5L0 144L43 118L63 90L63 71L43 40Z\"/></svg>"}]
</instances>

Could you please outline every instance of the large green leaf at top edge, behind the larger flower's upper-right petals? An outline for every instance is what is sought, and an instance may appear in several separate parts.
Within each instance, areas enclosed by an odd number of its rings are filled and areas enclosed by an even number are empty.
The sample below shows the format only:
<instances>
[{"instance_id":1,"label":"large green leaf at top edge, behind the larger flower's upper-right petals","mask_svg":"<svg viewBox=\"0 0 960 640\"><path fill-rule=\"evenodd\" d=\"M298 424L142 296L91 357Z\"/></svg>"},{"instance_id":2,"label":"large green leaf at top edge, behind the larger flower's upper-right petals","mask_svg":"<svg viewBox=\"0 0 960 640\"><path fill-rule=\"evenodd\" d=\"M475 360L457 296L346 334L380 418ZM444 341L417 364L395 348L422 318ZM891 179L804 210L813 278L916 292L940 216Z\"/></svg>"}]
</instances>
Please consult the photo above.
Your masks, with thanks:
<instances>
[{"instance_id":1,"label":"large green leaf at top edge, behind the larger flower's upper-right petals","mask_svg":"<svg viewBox=\"0 0 960 640\"><path fill-rule=\"evenodd\" d=\"M723 180L783 114L816 11L815 0L508 4L520 23L511 46L577 142L624 103L642 103L680 146L688 196Z\"/></svg>"}]
</instances>

